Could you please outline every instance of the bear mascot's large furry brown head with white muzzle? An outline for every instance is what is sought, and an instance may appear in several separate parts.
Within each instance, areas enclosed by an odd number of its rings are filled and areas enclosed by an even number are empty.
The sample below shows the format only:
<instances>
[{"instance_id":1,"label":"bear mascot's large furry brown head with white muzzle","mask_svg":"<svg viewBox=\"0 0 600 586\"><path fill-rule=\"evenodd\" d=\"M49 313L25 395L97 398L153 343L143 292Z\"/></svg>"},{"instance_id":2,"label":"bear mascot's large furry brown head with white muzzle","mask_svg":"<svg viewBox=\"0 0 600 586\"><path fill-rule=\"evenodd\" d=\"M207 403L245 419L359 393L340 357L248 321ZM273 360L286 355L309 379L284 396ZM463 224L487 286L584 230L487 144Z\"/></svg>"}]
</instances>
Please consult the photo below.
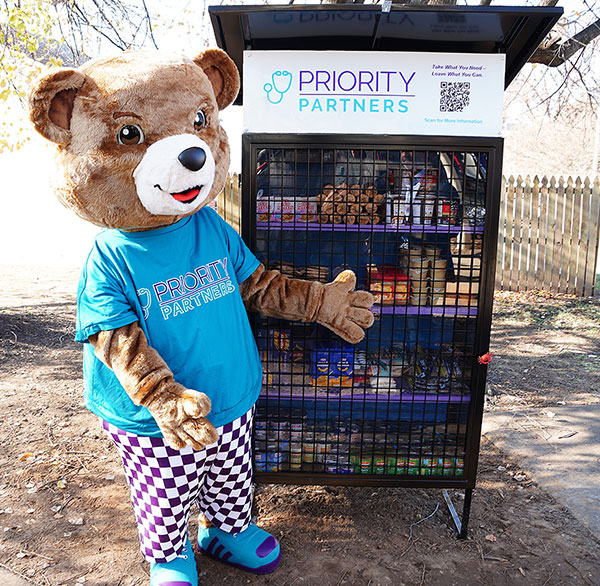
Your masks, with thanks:
<instances>
[{"instance_id":1,"label":"bear mascot's large furry brown head with white muzzle","mask_svg":"<svg viewBox=\"0 0 600 586\"><path fill-rule=\"evenodd\" d=\"M239 91L217 49L195 57L131 51L54 69L29 96L36 130L56 144L57 197L99 226L173 224L212 201L229 169L219 112Z\"/></svg>"}]
</instances>

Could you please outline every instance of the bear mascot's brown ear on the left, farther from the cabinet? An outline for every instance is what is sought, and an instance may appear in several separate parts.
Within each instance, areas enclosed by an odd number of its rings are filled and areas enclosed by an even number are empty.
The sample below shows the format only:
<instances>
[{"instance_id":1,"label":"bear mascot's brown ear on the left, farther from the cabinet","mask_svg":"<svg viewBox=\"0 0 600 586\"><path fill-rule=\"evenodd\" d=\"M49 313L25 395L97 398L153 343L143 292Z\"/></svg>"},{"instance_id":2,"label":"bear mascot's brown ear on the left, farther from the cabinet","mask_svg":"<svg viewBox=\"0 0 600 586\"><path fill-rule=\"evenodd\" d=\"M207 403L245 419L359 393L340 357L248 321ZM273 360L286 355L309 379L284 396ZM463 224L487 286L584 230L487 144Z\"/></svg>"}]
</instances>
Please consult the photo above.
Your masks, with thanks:
<instances>
[{"instance_id":1,"label":"bear mascot's brown ear on the left, farther from the cabinet","mask_svg":"<svg viewBox=\"0 0 600 586\"><path fill-rule=\"evenodd\" d=\"M76 69L53 69L40 77L29 94L29 118L35 129L57 144L71 141L71 114L85 75Z\"/></svg>"}]
</instances>

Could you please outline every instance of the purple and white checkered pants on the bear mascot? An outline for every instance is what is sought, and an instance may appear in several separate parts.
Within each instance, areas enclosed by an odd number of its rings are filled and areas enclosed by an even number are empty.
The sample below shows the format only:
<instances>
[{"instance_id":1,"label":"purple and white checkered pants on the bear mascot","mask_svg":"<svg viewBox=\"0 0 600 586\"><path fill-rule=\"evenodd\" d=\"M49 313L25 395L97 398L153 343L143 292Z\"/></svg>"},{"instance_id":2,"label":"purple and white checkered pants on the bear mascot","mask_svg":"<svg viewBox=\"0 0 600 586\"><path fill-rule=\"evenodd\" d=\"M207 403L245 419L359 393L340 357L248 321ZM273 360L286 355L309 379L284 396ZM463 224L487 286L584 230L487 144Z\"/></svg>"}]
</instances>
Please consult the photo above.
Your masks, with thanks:
<instances>
[{"instance_id":1,"label":"purple and white checkered pants on the bear mascot","mask_svg":"<svg viewBox=\"0 0 600 586\"><path fill-rule=\"evenodd\" d=\"M140 536L150 562L169 562L183 549L192 503L214 525L239 533L252 508L253 409L217 427L219 440L203 450L169 447L103 421L123 460Z\"/></svg>"}]
</instances>

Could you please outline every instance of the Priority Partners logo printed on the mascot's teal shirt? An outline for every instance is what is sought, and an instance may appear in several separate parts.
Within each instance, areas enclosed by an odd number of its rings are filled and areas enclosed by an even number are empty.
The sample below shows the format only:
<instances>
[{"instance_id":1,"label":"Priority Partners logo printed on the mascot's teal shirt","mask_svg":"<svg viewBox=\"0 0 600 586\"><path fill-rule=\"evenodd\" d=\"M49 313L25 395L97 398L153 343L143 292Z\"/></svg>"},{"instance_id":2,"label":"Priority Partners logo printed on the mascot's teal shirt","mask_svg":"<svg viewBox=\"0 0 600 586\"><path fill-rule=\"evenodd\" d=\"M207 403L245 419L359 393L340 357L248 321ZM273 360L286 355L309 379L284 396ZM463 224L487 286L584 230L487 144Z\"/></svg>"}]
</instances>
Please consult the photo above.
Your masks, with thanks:
<instances>
[{"instance_id":1,"label":"Priority Partners logo printed on the mascot's teal shirt","mask_svg":"<svg viewBox=\"0 0 600 586\"><path fill-rule=\"evenodd\" d=\"M227 271L227 258L200 265L182 275L157 281L148 288L138 289L144 319L153 306L164 320L212 303L236 290Z\"/></svg>"}]
</instances>

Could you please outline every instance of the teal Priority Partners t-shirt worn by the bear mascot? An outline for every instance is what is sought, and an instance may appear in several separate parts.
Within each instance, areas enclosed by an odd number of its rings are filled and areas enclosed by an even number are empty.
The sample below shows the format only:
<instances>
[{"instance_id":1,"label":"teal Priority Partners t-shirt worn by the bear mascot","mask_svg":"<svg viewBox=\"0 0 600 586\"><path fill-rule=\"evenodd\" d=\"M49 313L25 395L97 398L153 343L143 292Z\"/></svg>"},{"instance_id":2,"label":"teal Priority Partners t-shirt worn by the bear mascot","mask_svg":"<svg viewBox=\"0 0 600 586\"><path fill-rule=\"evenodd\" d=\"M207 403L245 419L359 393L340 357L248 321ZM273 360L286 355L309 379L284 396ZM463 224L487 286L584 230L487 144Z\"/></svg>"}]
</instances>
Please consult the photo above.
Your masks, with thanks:
<instances>
[{"instance_id":1,"label":"teal Priority Partners t-shirt worn by the bear mascot","mask_svg":"<svg viewBox=\"0 0 600 586\"><path fill-rule=\"evenodd\" d=\"M172 226L143 232L104 230L83 268L75 339L138 321L187 388L206 393L215 426L240 417L262 383L258 349L239 283L259 261L210 208ZM112 370L84 345L85 404L117 427L161 436L145 407L136 406Z\"/></svg>"}]
</instances>

